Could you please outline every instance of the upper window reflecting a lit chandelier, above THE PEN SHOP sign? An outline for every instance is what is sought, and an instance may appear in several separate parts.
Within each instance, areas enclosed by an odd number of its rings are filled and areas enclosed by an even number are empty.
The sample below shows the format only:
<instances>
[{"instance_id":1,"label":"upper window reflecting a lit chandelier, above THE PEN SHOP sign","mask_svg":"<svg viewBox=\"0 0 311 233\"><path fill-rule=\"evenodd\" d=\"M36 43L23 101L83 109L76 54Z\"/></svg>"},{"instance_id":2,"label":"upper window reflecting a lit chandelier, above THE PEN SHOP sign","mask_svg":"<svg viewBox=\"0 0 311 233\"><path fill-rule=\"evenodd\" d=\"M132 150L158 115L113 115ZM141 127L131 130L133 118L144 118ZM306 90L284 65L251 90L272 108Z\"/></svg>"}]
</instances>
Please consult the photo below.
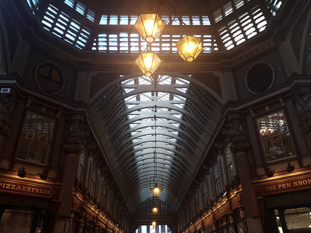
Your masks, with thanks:
<instances>
[{"instance_id":1,"label":"upper window reflecting a lit chandelier, above THE PEN SHOP sign","mask_svg":"<svg viewBox=\"0 0 311 233\"><path fill-rule=\"evenodd\" d=\"M283 111L258 119L258 127L267 162L295 157Z\"/></svg>"}]
</instances>

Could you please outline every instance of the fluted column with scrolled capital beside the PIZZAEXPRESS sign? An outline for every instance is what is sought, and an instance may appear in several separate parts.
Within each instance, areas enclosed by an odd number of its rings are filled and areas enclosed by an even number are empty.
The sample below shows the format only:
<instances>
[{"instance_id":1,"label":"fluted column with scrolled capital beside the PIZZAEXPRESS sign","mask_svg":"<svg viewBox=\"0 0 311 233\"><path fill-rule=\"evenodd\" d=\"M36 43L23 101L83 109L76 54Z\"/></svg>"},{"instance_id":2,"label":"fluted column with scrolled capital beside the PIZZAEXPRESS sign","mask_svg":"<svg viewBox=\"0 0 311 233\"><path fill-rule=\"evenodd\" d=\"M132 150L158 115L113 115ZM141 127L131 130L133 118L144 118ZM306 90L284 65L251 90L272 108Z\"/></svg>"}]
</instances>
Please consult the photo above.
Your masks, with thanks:
<instances>
[{"instance_id":1,"label":"fluted column with scrolled capital beside the PIZZAEXPRESS sign","mask_svg":"<svg viewBox=\"0 0 311 233\"><path fill-rule=\"evenodd\" d=\"M77 176L79 165L79 151L81 144L64 144L63 149L66 150L66 162L64 167L63 184L59 194L61 202L58 209L57 218L54 226L54 233L67 233L69 228L71 206L72 206L72 191L74 181Z\"/></svg>"}]
</instances>

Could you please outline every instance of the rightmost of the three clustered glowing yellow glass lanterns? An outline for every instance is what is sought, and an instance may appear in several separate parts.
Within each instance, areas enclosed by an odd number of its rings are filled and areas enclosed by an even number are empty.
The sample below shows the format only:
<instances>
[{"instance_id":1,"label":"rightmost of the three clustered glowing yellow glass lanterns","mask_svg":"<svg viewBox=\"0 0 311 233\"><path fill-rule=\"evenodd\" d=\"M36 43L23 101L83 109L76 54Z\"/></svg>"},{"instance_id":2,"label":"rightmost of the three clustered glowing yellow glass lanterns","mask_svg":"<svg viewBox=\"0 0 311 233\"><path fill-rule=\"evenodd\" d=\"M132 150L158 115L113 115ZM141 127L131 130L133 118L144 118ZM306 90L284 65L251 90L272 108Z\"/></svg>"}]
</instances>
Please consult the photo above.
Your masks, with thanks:
<instances>
[{"instance_id":1,"label":"rightmost of the three clustered glowing yellow glass lanterns","mask_svg":"<svg viewBox=\"0 0 311 233\"><path fill-rule=\"evenodd\" d=\"M183 60L192 62L203 50L202 39L194 36L185 36L176 43L177 52Z\"/></svg>"}]
</instances>

